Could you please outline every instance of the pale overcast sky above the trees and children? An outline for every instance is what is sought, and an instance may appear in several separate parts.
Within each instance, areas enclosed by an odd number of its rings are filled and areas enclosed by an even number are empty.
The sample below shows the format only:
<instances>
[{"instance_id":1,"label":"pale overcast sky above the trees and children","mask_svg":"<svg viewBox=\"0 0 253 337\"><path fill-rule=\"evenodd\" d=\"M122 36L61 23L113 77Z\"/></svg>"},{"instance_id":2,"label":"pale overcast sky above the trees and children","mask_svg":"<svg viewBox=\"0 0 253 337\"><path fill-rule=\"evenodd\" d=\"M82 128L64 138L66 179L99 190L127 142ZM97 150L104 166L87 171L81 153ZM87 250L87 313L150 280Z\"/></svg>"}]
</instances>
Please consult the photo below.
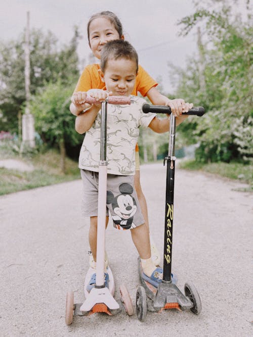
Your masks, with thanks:
<instances>
[{"instance_id":1,"label":"pale overcast sky above the trees and children","mask_svg":"<svg viewBox=\"0 0 253 337\"><path fill-rule=\"evenodd\" d=\"M233 2L233 0L231 0ZM173 92L167 62L185 66L187 55L197 53L196 35L177 35L177 22L192 14L192 0L1 0L0 39L17 39L30 12L30 28L52 31L61 42L68 42L77 24L83 35L78 53L88 62L90 49L86 26L91 15L109 10L122 22L125 39L136 48L140 64L157 79L162 76L165 92Z\"/></svg>"}]
</instances>

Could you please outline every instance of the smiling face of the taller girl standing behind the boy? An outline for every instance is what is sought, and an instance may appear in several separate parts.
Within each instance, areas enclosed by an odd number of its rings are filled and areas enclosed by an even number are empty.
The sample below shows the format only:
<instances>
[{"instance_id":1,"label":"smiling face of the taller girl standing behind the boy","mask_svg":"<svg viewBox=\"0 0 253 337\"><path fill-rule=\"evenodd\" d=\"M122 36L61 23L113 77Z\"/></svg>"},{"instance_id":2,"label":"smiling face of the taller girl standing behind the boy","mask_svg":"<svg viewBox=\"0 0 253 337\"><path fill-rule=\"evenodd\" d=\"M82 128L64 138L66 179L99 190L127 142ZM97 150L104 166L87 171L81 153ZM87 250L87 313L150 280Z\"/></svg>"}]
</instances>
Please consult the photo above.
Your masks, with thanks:
<instances>
[{"instance_id":1,"label":"smiling face of the taller girl standing behind the boy","mask_svg":"<svg viewBox=\"0 0 253 337\"><path fill-rule=\"evenodd\" d=\"M101 58L101 49L105 43L119 38L123 38L123 35L119 36L110 20L100 17L91 22L89 27L89 41L92 53L97 59Z\"/></svg>"}]
</instances>

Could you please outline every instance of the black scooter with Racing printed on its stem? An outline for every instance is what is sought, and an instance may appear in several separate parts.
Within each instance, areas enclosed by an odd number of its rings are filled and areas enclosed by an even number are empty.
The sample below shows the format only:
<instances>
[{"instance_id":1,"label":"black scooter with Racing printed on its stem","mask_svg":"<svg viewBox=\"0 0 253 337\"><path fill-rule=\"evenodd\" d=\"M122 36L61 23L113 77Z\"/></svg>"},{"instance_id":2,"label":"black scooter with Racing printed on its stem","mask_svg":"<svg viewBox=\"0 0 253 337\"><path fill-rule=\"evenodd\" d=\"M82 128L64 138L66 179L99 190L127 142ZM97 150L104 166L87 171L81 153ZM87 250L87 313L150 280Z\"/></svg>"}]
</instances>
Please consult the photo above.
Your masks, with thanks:
<instances>
[{"instance_id":1,"label":"black scooter with Racing printed on its stem","mask_svg":"<svg viewBox=\"0 0 253 337\"><path fill-rule=\"evenodd\" d=\"M172 282L172 236L173 236L173 204L174 204L174 176L175 176L175 133L176 118L171 113L170 107L151 106L144 104L144 113L166 113L170 114L170 133L168 141L168 155L164 158L167 163L166 173L166 202L165 202L165 223L164 223L164 250L163 250L163 277L158 288L142 278L142 267L140 258L138 259L138 271L142 285L136 293L136 310L140 321L144 321L147 310L151 312L161 312L164 309L190 309L194 314L201 312L201 300L192 282L185 283L185 295ZM193 108L186 115L202 116L204 108Z\"/></svg>"}]
</instances>

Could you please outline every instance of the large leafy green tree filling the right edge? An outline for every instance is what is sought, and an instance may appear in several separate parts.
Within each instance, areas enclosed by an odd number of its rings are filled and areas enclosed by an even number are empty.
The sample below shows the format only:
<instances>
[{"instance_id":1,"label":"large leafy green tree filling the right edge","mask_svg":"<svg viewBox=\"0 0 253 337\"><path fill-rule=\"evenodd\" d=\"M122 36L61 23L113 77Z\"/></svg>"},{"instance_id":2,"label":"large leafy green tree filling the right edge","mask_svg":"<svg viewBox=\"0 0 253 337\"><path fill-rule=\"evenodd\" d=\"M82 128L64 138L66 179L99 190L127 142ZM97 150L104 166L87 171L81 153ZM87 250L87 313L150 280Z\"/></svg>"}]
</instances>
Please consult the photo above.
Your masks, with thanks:
<instances>
[{"instance_id":1,"label":"large leafy green tree filling the right edge","mask_svg":"<svg viewBox=\"0 0 253 337\"><path fill-rule=\"evenodd\" d=\"M204 32L203 73L200 74L200 58L191 58L186 70L172 69L181 78L180 81L178 77L177 96L195 106L203 105L208 111L202 118L191 119L190 127L182 124L200 142L199 160L252 160L252 15L248 1L245 19L234 15L230 4L226 0L197 3L195 13L179 23L182 35L196 26ZM204 88L200 75L204 77Z\"/></svg>"}]
</instances>

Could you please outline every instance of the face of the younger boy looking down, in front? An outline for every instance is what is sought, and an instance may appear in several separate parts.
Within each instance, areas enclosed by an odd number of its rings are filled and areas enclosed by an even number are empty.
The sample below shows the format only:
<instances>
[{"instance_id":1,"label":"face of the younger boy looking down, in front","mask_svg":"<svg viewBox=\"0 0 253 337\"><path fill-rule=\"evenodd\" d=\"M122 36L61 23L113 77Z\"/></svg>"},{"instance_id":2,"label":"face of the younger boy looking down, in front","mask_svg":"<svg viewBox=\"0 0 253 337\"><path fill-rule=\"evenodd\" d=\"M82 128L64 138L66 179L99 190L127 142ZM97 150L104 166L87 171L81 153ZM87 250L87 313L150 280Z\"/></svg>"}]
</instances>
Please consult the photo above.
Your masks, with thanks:
<instances>
[{"instance_id":1,"label":"face of the younger boy looking down, in front","mask_svg":"<svg viewBox=\"0 0 253 337\"><path fill-rule=\"evenodd\" d=\"M135 86L136 62L128 59L109 59L104 73L100 76L105 82L107 91L112 91L115 96L129 96Z\"/></svg>"}]
</instances>

